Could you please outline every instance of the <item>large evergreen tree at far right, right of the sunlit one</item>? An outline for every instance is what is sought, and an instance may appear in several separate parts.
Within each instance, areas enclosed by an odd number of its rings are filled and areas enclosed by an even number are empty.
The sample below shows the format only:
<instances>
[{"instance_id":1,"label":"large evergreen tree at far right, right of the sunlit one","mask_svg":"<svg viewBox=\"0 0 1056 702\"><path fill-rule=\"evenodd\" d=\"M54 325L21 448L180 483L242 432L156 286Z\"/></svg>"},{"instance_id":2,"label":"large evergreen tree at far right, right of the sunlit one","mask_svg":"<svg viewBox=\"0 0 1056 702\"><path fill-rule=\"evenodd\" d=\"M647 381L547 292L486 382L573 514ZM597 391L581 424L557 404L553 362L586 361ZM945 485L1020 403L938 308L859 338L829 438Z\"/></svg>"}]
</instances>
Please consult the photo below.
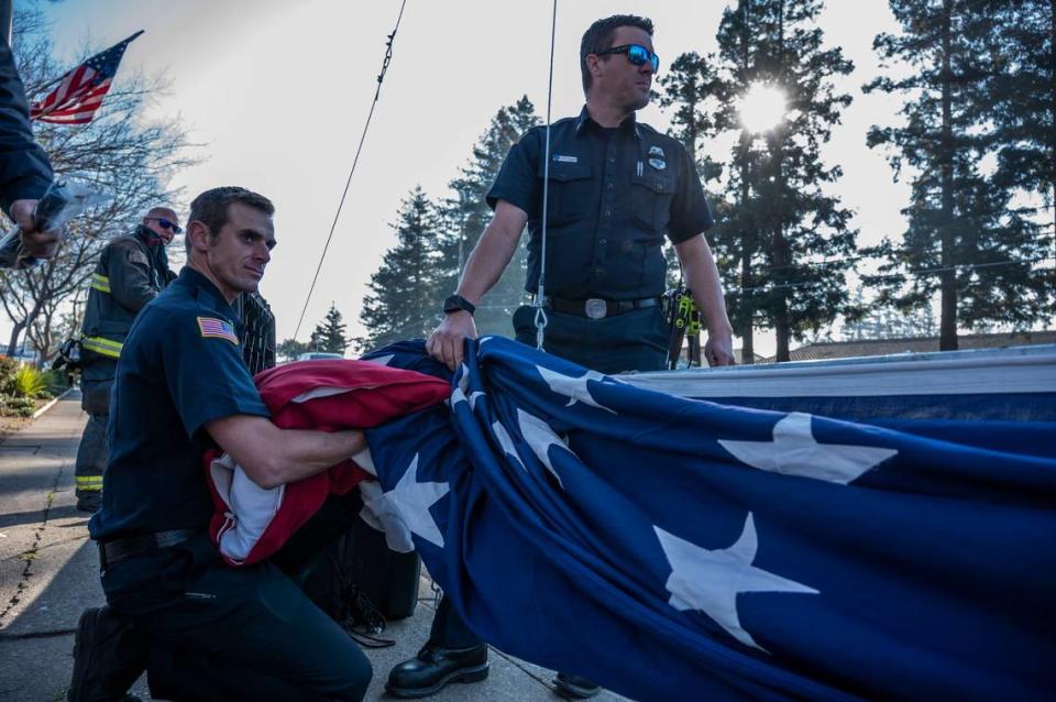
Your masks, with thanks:
<instances>
[{"instance_id":1,"label":"large evergreen tree at far right, right of the sunlit one","mask_svg":"<svg viewBox=\"0 0 1056 702\"><path fill-rule=\"evenodd\" d=\"M870 146L889 149L898 178L912 168L912 195L903 210L901 245L879 251L884 275L875 282L881 303L921 308L939 296L939 348L957 348L959 325L1002 321L1030 325L1045 315L1050 295L1034 262L1042 254L1037 224L1012 207L1012 193L996 187L981 167L994 143L996 81L1004 52L992 34L990 3L979 0L890 0L902 33L881 34L873 46L884 66L908 64L898 77L881 76L866 91L903 94L904 124L873 127ZM1015 20L1012 20L1015 21ZM1004 100L1008 105L1010 100Z\"/></svg>"}]
</instances>

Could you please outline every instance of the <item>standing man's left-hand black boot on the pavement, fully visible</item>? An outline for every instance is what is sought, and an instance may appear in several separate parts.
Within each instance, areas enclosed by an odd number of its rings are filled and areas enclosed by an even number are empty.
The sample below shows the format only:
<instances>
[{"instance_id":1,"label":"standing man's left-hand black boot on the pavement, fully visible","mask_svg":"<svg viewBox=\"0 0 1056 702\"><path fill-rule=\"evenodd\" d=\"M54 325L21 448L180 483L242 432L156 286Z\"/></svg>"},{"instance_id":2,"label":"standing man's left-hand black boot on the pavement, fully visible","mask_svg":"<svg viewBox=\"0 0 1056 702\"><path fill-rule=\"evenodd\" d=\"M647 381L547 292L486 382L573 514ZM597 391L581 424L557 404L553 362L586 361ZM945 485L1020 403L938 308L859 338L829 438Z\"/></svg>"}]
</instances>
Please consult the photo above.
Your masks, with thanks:
<instances>
[{"instance_id":1,"label":"standing man's left-hand black boot on the pavement, fully visible","mask_svg":"<svg viewBox=\"0 0 1056 702\"><path fill-rule=\"evenodd\" d=\"M472 648L426 646L418 656L388 673L385 690L396 698L427 698L449 682L477 682L487 678L487 644Z\"/></svg>"}]
</instances>

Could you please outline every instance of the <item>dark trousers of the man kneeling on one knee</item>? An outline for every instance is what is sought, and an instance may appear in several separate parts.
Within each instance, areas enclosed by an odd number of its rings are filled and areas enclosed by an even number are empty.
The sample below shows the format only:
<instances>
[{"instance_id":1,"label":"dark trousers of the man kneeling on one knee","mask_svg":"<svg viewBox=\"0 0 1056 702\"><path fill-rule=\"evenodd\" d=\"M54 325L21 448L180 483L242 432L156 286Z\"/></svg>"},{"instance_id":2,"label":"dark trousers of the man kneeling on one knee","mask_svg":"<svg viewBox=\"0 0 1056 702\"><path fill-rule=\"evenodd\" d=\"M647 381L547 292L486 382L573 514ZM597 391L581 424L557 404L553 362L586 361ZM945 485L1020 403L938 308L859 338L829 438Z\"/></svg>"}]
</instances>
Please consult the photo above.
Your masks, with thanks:
<instances>
[{"instance_id":1,"label":"dark trousers of the man kneeling on one knee","mask_svg":"<svg viewBox=\"0 0 1056 702\"><path fill-rule=\"evenodd\" d=\"M362 700L370 661L290 579L350 528L361 505L358 490L331 497L274 558L253 566L228 567L202 535L108 568L102 580L111 608L150 640L151 694Z\"/></svg>"}]
</instances>

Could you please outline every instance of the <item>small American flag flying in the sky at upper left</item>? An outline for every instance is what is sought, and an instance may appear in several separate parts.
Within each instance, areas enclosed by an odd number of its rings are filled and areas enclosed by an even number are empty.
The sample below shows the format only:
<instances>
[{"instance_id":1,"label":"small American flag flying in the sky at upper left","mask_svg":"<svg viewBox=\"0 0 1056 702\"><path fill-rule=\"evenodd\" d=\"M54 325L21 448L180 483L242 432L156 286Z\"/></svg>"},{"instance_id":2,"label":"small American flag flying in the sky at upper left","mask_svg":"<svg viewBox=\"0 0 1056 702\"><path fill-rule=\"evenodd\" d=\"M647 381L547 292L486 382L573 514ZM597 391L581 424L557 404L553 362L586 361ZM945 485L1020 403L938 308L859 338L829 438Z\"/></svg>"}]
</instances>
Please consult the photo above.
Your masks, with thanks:
<instances>
[{"instance_id":1,"label":"small American flag flying in the sky at upper left","mask_svg":"<svg viewBox=\"0 0 1056 702\"><path fill-rule=\"evenodd\" d=\"M30 106L30 119L56 124L87 124L102 105L118 73L121 57L129 44L142 34L139 31L129 39L96 54L56 83L57 87L40 101Z\"/></svg>"}]
</instances>

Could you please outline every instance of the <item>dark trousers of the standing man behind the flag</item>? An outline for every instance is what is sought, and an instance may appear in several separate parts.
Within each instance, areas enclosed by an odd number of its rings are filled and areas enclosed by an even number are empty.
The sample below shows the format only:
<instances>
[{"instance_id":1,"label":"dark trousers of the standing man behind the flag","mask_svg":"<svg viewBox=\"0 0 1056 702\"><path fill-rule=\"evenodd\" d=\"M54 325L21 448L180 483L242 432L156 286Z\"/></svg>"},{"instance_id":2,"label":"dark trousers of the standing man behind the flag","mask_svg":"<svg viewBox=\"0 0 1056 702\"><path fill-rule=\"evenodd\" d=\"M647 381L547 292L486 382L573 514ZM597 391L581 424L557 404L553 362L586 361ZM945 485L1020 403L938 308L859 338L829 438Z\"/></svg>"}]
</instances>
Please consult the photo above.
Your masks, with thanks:
<instances>
[{"instance_id":1,"label":"dark trousers of the standing man behind the flag","mask_svg":"<svg viewBox=\"0 0 1056 702\"><path fill-rule=\"evenodd\" d=\"M535 347L536 308L514 314L517 341ZM547 312L543 349L598 373L662 371L668 358L668 322L660 307L646 307L604 319ZM471 648L483 644L444 597L437 607L429 646Z\"/></svg>"}]
</instances>

